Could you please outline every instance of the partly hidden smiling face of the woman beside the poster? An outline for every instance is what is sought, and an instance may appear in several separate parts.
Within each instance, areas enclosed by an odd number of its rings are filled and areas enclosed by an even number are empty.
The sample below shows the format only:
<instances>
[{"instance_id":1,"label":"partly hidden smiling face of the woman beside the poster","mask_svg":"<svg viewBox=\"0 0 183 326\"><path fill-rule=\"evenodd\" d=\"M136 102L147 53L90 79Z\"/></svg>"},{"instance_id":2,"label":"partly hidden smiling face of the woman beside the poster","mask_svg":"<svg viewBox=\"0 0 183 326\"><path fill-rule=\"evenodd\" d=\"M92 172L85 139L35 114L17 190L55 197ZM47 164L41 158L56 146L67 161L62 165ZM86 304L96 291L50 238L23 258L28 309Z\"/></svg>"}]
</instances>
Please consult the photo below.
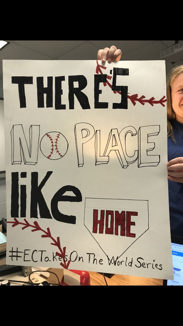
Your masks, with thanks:
<instances>
[{"instance_id":1,"label":"partly hidden smiling face of the woman beside the poster","mask_svg":"<svg viewBox=\"0 0 183 326\"><path fill-rule=\"evenodd\" d=\"M178 75L171 85L172 107L176 120L183 123L183 73Z\"/></svg>"}]
</instances>

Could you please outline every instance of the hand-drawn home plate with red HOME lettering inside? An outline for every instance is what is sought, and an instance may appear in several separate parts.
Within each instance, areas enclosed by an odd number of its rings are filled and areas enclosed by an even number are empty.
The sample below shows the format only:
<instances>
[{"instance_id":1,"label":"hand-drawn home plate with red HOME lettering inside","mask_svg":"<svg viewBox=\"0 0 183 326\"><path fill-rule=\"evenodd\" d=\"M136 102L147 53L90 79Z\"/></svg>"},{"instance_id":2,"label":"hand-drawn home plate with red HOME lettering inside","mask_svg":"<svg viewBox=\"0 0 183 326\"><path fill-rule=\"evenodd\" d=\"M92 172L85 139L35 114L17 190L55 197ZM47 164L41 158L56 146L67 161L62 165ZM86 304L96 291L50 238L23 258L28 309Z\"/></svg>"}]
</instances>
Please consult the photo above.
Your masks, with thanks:
<instances>
[{"instance_id":1,"label":"hand-drawn home plate with red HOME lettering inside","mask_svg":"<svg viewBox=\"0 0 183 326\"><path fill-rule=\"evenodd\" d=\"M85 198L84 225L116 260L149 229L148 200Z\"/></svg>"}]
</instances>

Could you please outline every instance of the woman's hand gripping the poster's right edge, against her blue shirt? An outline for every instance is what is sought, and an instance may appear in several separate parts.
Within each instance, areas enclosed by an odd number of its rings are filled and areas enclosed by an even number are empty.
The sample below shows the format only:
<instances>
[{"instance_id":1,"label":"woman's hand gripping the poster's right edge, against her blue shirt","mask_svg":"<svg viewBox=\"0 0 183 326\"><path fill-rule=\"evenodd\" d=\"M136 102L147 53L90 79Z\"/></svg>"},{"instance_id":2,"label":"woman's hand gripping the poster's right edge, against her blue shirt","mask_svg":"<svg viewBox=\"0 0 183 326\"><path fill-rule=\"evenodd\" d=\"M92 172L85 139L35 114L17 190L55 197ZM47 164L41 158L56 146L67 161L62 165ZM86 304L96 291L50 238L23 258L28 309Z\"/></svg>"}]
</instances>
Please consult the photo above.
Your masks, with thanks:
<instances>
[{"instance_id":1,"label":"woman's hand gripping the poster's right edge, against her blue shirt","mask_svg":"<svg viewBox=\"0 0 183 326\"><path fill-rule=\"evenodd\" d=\"M183 157L176 157L167 163L168 180L183 183Z\"/></svg>"}]
</instances>

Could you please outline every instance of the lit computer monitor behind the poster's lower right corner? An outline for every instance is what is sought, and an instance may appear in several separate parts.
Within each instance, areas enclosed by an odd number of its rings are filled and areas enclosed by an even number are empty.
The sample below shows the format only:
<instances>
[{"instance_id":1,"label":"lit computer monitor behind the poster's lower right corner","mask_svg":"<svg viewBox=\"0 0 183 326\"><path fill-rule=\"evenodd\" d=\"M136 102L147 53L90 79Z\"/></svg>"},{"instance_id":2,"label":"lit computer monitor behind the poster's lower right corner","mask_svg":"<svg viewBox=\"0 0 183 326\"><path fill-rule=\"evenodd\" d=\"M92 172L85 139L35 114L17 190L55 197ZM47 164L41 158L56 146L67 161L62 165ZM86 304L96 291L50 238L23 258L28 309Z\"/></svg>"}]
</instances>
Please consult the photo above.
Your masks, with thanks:
<instances>
[{"instance_id":1,"label":"lit computer monitor behind the poster's lower right corner","mask_svg":"<svg viewBox=\"0 0 183 326\"><path fill-rule=\"evenodd\" d=\"M163 280L163 285L183 285L183 238L171 236L174 279Z\"/></svg>"}]
</instances>

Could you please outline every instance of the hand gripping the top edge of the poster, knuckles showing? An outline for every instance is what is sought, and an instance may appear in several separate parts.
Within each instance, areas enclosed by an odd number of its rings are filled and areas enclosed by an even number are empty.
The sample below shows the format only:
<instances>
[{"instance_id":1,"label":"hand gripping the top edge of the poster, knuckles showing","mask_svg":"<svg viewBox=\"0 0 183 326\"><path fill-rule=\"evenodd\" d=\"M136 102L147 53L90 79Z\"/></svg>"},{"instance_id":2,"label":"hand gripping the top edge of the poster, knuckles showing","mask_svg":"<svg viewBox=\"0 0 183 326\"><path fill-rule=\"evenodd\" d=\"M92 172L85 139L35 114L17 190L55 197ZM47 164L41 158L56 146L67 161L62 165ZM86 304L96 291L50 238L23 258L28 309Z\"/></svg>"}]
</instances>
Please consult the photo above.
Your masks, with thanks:
<instances>
[{"instance_id":1,"label":"hand gripping the top edge of the poster, knuckles showing","mask_svg":"<svg viewBox=\"0 0 183 326\"><path fill-rule=\"evenodd\" d=\"M106 60L108 63L119 61L121 59L122 52L117 49L114 45L109 48L101 49L98 51L97 60L101 60L105 64Z\"/></svg>"}]
</instances>

